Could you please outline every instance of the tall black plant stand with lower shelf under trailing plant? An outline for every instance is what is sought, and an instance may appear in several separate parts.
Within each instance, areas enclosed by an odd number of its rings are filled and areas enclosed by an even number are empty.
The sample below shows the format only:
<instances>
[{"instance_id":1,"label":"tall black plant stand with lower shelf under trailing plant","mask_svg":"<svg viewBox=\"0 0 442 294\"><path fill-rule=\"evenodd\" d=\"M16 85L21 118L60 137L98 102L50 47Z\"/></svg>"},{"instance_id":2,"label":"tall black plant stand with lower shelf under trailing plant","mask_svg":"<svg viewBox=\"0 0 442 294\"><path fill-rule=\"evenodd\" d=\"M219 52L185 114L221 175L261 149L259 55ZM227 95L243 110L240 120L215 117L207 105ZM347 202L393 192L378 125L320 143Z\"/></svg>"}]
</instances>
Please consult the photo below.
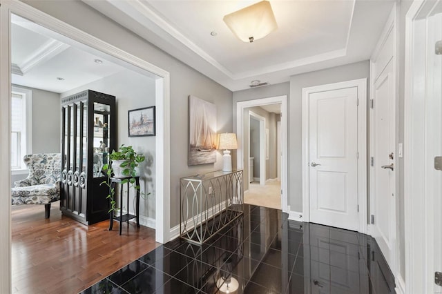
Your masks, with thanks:
<instances>
[{"instance_id":1,"label":"tall black plant stand with lower shelf under trailing plant","mask_svg":"<svg viewBox=\"0 0 442 294\"><path fill-rule=\"evenodd\" d=\"M136 193L136 204L135 204L135 215L131 215L129 213L129 184L127 183L127 213L123 214L122 205L123 205L123 187L124 184L122 184L124 179L130 179L131 177L111 177L111 189L115 189L115 184L120 184L120 190L119 190L119 216L113 215L113 210L111 210L111 213L109 213L109 231L112 231L113 227L113 220L115 219L117 222L119 222L119 235L122 235L122 223L127 222L127 225L129 225L129 219L136 219L137 220L137 227L140 228L140 190L135 189L137 191ZM140 186L140 177L134 177L135 178L135 186Z\"/></svg>"}]
</instances>

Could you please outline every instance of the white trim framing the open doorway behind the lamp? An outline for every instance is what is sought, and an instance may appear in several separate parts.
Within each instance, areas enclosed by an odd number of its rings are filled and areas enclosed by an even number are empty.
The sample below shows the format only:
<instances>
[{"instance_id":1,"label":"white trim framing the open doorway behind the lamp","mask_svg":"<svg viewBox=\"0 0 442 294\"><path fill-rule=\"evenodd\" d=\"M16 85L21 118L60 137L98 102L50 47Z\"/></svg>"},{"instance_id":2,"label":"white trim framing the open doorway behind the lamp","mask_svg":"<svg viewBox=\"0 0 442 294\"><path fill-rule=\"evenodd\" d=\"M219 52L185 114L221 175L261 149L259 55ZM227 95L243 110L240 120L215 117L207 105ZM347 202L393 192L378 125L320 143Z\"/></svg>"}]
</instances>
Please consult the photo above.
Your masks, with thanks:
<instances>
[{"instance_id":1,"label":"white trim framing the open doorway behind the lamp","mask_svg":"<svg viewBox=\"0 0 442 294\"><path fill-rule=\"evenodd\" d=\"M244 128L242 126L244 121L244 108L249 108L253 106L262 106L268 104L281 104L281 153L282 153L282 162L281 162L281 208L283 213L288 213L288 179L287 176L287 162L288 162L288 153L287 153L287 96L277 96L277 97L269 97L262 99L253 99L247 101L240 101L236 103L236 106L233 105L233 110L235 111L236 107L236 137L238 139L238 150L236 150L236 166L238 169L242 169L244 165L244 147L241 144L243 139ZM247 153L246 153L247 154ZM247 163L248 164L248 163Z\"/></svg>"}]
</instances>

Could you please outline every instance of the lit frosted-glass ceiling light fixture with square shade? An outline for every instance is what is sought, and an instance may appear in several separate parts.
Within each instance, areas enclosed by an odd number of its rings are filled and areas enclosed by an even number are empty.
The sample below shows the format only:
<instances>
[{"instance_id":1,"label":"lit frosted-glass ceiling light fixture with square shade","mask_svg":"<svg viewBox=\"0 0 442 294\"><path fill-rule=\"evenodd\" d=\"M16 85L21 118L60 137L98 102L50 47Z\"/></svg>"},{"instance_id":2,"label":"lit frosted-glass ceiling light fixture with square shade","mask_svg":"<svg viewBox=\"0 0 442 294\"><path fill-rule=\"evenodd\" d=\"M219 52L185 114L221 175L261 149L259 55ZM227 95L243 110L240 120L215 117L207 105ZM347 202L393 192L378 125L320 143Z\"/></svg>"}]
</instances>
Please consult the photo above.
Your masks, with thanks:
<instances>
[{"instance_id":1,"label":"lit frosted-glass ceiling light fixture with square shade","mask_svg":"<svg viewBox=\"0 0 442 294\"><path fill-rule=\"evenodd\" d=\"M238 39L252 43L278 28L269 1L260 1L222 19Z\"/></svg>"}]
</instances>

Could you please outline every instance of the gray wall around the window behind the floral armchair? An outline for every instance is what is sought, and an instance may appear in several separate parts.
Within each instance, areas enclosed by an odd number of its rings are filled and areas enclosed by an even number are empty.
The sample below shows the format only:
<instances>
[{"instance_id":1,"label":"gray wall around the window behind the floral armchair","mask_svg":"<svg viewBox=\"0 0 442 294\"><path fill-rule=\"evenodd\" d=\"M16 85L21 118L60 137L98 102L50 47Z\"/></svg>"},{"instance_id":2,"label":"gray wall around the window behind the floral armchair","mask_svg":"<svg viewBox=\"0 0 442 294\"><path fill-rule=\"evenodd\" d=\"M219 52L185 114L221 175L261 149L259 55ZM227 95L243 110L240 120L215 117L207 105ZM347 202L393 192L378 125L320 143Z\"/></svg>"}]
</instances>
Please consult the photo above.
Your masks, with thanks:
<instances>
[{"instance_id":1,"label":"gray wall around the window behind the floral armchair","mask_svg":"<svg viewBox=\"0 0 442 294\"><path fill-rule=\"evenodd\" d=\"M59 153L60 152L60 113L61 104L59 95L35 88L19 85L19 88L32 90L32 153ZM11 184L26 175L12 175Z\"/></svg>"}]
</instances>

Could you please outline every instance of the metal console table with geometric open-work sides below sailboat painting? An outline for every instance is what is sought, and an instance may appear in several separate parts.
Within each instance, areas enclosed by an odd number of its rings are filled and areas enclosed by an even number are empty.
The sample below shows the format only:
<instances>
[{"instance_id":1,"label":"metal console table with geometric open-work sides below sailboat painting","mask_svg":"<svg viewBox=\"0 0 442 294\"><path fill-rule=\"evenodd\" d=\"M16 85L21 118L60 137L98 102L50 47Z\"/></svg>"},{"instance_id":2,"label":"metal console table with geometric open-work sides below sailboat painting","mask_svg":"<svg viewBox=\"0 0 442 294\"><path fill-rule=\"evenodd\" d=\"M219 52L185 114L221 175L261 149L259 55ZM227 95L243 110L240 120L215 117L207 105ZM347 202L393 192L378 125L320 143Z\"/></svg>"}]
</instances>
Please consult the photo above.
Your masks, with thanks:
<instances>
[{"instance_id":1,"label":"metal console table with geometric open-work sides below sailboat painting","mask_svg":"<svg viewBox=\"0 0 442 294\"><path fill-rule=\"evenodd\" d=\"M243 215L242 170L222 170L180 179L180 235L203 244Z\"/></svg>"}]
</instances>

